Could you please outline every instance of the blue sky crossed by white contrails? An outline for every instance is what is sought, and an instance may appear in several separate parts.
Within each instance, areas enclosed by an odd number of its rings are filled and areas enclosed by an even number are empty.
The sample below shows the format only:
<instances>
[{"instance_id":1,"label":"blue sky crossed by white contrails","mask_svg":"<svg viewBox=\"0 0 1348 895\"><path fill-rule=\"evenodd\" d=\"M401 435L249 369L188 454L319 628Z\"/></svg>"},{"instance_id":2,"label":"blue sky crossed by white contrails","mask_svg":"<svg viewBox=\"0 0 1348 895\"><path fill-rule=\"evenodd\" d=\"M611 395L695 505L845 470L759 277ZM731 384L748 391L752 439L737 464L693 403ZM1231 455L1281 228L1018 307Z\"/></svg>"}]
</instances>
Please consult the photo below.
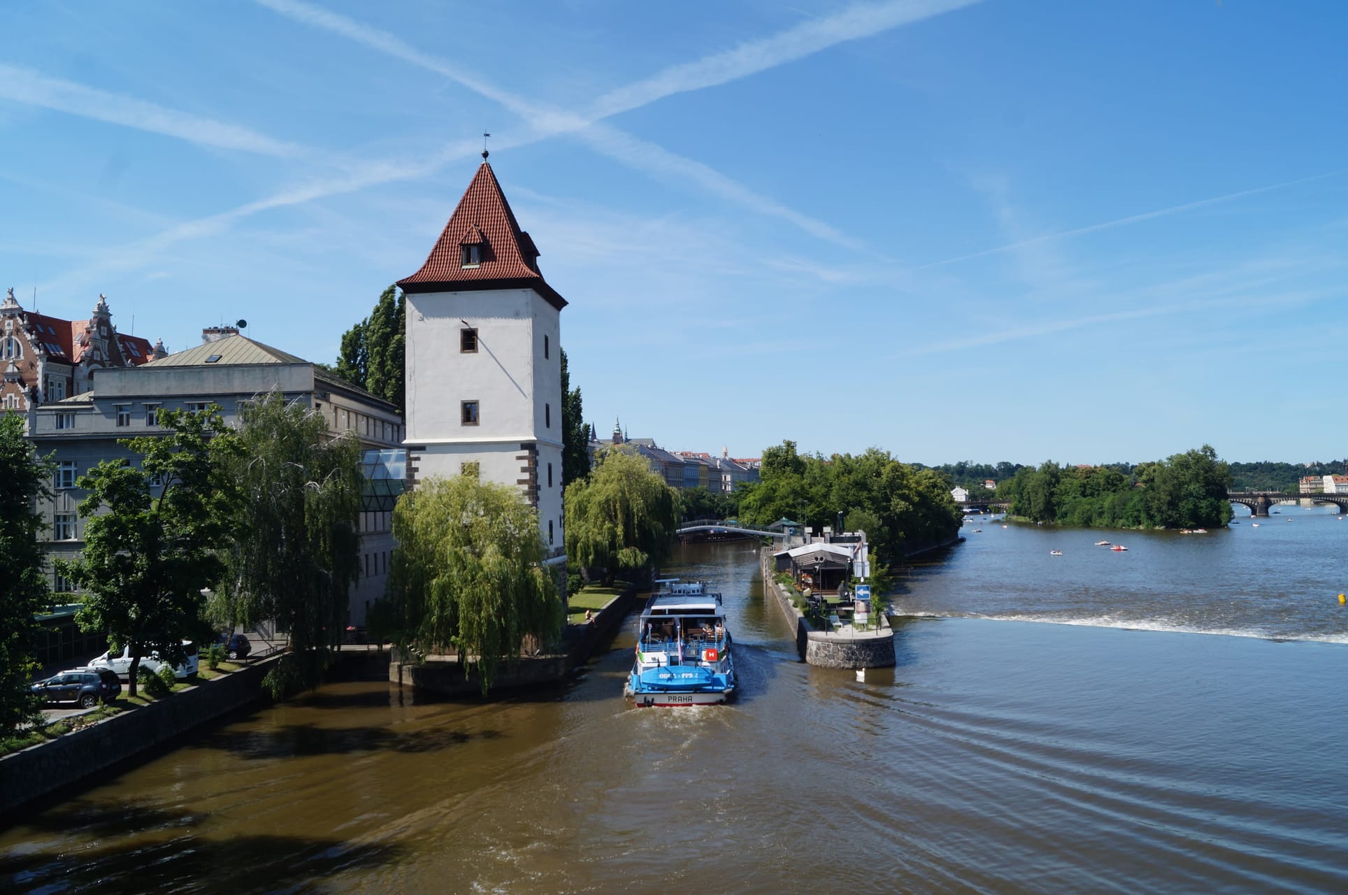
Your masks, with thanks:
<instances>
[{"instance_id":1,"label":"blue sky crossed by white contrails","mask_svg":"<svg viewBox=\"0 0 1348 895\"><path fill-rule=\"evenodd\" d=\"M1333 0L18 0L0 34L0 287L43 313L330 361L489 131L600 431L1348 454Z\"/></svg>"}]
</instances>

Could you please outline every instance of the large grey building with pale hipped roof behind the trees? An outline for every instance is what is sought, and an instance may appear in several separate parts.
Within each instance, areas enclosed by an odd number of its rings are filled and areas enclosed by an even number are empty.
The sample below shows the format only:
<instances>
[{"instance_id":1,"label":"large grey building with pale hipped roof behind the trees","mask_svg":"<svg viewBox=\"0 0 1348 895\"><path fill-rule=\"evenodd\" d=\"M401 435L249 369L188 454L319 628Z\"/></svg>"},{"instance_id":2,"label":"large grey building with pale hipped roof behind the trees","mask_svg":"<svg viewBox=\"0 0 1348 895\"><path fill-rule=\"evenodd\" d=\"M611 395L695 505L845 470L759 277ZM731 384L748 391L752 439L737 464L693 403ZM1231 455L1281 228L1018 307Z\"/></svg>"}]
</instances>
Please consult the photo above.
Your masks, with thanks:
<instances>
[{"instance_id":1,"label":"large grey building with pale hipped roof behind the trees","mask_svg":"<svg viewBox=\"0 0 1348 895\"><path fill-rule=\"evenodd\" d=\"M394 549L392 508L404 477L398 408L237 329L210 328L202 338L195 348L147 364L101 369L92 390L35 408L30 435L38 453L51 453L57 464L51 499L39 507L49 526L49 555L71 559L84 549L86 520L78 518L78 507L86 492L75 480L102 460L132 460L119 439L163 433L162 410L218 404L225 423L236 423L241 403L279 391L322 414L334 437L350 433L365 448L371 484L360 514L361 572L348 621L364 624L365 609L383 596ZM50 567L49 574L54 592L71 590Z\"/></svg>"}]
</instances>

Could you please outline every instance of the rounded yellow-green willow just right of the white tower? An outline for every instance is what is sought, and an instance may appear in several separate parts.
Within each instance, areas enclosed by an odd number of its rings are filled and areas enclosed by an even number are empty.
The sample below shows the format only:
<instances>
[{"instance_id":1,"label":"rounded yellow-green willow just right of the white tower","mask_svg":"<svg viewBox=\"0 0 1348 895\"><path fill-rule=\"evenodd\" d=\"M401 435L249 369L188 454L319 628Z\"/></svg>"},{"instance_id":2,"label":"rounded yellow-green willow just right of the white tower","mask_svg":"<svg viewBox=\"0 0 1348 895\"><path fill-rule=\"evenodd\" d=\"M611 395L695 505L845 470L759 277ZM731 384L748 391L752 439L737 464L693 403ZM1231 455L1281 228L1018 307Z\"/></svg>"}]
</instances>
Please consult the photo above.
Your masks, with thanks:
<instances>
[{"instance_id":1,"label":"rounded yellow-green willow just right of the white tower","mask_svg":"<svg viewBox=\"0 0 1348 895\"><path fill-rule=\"evenodd\" d=\"M596 458L588 480L566 489L566 553L581 566L604 570L659 566L678 528L678 493L646 458L619 446Z\"/></svg>"}]
</instances>

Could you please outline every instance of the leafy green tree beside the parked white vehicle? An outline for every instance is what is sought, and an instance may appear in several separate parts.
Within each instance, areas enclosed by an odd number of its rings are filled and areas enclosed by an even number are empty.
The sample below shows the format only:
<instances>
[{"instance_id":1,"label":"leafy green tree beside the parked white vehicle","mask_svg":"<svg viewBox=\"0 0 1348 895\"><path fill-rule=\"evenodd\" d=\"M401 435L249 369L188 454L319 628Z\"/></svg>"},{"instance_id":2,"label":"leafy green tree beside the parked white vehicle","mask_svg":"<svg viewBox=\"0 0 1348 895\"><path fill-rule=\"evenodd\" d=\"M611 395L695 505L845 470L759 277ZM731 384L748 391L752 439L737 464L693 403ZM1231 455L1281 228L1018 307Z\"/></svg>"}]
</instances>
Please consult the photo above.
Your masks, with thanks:
<instances>
[{"instance_id":1,"label":"leafy green tree beside the parked white vehicle","mask_svg":"<svg viewBox=\"0 0 1348 895\"><path fill-rule=\"evenodd\" d=\"M201 632L201 592L224 570L218 551L239 501L224 462L236 443L218 412L160 410L159 425L166 434L120 442L140 468L105 460L81 476L85 547L78 559L57 561L85 590L80 627L129 647L131 696L140 659L158 652L179 665L182 640Z\"/></svg>"}]
</instances>

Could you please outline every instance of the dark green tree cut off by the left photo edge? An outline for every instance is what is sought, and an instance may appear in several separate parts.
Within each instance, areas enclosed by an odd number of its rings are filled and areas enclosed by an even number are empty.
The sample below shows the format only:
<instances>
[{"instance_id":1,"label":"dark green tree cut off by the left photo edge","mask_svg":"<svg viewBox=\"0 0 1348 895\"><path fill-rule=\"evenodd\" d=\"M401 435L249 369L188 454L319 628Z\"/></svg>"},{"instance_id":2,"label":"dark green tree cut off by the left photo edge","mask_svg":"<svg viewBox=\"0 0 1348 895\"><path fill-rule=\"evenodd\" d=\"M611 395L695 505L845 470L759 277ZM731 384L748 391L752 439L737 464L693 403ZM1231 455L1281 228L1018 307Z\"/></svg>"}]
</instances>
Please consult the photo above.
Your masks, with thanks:
<instances>
[{"instance_id":1,"label":"dark green tree cut off by the left photo edge","mask_svg":"<svg viewBox=\"0 0 1348 895\"><path fill-rule=\"evenodd\" d=\"M43 530L38 499L50 495L51 464L23 437L23 416L0 414L0 733L42 717L42 700L28 689L38 663L34 615L46 609Z\"/></svg>"}]
</instances>

